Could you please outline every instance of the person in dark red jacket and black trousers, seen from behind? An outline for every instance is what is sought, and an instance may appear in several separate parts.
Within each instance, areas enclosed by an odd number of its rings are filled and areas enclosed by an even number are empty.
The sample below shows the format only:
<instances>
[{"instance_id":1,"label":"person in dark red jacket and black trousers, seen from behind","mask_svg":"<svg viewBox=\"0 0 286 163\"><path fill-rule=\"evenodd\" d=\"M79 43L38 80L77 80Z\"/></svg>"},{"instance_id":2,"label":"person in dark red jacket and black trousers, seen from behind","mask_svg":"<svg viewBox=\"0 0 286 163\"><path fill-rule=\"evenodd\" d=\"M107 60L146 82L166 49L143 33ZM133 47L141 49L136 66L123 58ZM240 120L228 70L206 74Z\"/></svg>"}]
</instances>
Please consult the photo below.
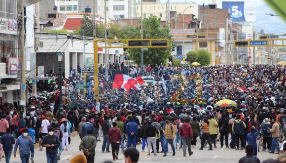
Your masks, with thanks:
<instances>
[{"instance_id":1,"label":"person in dark red jacket and black trousers, seen from behind","mask_svg":"<svg viewBox=\"0 0 286 163\"><path fill-rule=\"evenodd\" d=\"M117 123L112 123L113 127L108 131L108 141L111 143L111 151L113 161L118 160L119 144L121 142L121 131L117 127Z\"/></svg>"}]
</instances>

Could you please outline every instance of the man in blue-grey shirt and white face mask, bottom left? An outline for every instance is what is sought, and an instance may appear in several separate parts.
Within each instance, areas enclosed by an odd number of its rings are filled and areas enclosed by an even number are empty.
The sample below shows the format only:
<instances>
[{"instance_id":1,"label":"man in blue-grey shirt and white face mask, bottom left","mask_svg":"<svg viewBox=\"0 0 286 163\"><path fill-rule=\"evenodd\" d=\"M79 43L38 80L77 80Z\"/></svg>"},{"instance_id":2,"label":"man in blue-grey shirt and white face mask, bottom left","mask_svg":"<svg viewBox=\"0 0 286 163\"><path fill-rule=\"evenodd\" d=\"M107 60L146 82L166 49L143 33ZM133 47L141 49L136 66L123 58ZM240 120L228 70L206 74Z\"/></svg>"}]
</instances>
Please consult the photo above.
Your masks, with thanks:
<instances>
[{"instance_id":1,"label":"man in blue-grey shirt and white face mask, bottom left","mask_svg":"<svg viewBox=\"0 0 286 163\"><path fill-rule=\"evenodd\" d=\"M31 137L28 137L28 129L24 128L22 130L22 135L17 138L14 146L14 158L16 158L16 152L19 146L19 154L22 163L29 163L29 158L31 155L31 162L34 163L34 143Z\"/></svg>"}]
</instances>

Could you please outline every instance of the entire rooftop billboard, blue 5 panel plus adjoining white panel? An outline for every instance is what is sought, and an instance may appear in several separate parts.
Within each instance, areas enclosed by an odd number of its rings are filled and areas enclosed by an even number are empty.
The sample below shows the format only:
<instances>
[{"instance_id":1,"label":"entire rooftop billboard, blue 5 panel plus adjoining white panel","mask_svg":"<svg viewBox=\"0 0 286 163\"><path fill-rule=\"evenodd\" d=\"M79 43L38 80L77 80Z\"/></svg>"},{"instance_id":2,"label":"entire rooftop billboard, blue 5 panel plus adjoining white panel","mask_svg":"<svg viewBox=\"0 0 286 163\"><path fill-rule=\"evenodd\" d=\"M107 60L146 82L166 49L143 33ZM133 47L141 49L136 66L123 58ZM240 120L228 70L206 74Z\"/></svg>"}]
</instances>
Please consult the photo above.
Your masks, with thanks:
<instances>
[{"instance_id":1,"label":"entire rooftop billboard, blue 5 panel plus adjoining white panel","mask_svg":"<svg viewBox=\"0 0 286 163\"><path fill-rule=\"evenodd\" d=\"M222 8L229 9L229 19L233 22L256 21L255 1L223 1Z\"/></svg>"}]
</instances>

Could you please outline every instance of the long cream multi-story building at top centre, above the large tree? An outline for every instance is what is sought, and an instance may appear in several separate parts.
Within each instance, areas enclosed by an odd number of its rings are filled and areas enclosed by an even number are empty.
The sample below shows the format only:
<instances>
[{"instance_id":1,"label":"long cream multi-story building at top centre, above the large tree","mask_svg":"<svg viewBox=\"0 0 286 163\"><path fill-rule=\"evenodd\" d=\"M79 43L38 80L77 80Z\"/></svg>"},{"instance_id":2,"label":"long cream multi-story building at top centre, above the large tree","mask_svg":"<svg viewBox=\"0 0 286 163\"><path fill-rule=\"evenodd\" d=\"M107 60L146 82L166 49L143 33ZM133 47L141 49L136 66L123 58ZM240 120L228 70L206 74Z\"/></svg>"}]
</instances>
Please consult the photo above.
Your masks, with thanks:
<instances>
[{"instance_id":1,"label":"long cream multi-story building at top centre, above the large tree","mask_svg":"<svg viewBox=\"0 0 286 163\"><path fill-rule=\"evenodd\" d=\"M142 3L143 18L148 16L160 17L162 21L166 20L166 3L160 3L159 0L143 0ZM183 14L193 14L198 15L198 5L196 3L169 3L170 19L176 19L177 15ZM190 7L192 6L192 7ZM137 4L136 7L137 15L141 15L141 4Z\"/></svg>"}]
</instances>

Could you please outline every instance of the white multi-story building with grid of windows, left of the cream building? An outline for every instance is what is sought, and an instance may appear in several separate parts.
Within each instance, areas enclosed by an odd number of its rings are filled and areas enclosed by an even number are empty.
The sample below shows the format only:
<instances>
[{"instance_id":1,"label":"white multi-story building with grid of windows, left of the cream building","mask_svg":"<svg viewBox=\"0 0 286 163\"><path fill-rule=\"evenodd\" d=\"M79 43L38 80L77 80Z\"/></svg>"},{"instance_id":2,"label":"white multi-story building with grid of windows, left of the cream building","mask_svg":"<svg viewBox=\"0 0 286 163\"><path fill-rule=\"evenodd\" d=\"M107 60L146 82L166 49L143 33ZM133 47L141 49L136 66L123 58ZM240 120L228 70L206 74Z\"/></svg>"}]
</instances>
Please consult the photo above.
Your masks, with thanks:
<instances>
[{"instance_id":1,"label":"white multi-story building with grid of windows, left of the cream building","mask_svg":"<svg viewBox=\"0 0 286 163\"><path fill-rule=\"evenodd\" d=\"M136 16L136 0L98 0L98 13L104 17L104 6L107 6L107 18L119 20Z\"/></svg>"}]
</instances>

